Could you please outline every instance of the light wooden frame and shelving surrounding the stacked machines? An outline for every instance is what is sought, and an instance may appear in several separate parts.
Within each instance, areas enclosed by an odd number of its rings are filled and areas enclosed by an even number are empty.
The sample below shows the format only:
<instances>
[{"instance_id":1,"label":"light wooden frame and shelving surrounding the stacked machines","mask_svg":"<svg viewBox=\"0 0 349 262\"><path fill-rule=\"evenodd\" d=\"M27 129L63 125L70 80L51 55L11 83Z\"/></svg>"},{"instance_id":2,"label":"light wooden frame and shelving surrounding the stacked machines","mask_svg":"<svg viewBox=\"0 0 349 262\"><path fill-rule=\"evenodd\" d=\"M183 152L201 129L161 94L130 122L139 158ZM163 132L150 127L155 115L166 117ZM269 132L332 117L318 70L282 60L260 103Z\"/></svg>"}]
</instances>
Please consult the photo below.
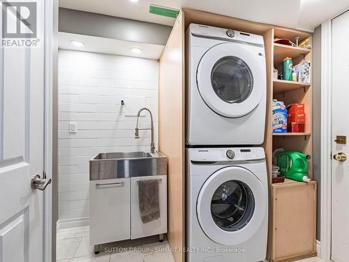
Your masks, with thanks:
<instances>
[{"instance_id":1,"label":"light wooden frame and shelving surrounding the stacked machines","mask_svg":"<svg viewBox=\"0 0 349 262\"><path fill-rule=\"evenodd\" d=\"M265 39L265 56L267 63L267 117L265 129L265 148L267 156L267 168L269 174L269 192L272 190L272 150L273 146L295 145L295 141L302 141L302 145L294 150L302 150L308 154L312 152L311 127L306 129L302 136L272 136L272 99L273 85L279 85L279 88L285 89L279 95L285 94L285 91L294 92L289 98L297 98L307 89L307 95L304 100L299 102L310 103L309 123L311 123L311 85L297 83L283 83L274 81L272 73L274 68L274 36L280 38L294 38L300 36L301 40L311 36L311 34L295 31L292 29L283 29L269 24L260 24L256 22L239 20L224 15L215 15L199 10L182 8L172 29L168 43L161 55L159 65L159 150L168 157L168 241L173 249L176 262L185 261L185 254L182 247L185 247L186 232L186 166L185 166L185 31L191 23L206 24L213 27L229 28L238 31L246 31L251 34L262 35ZM283 48L283 47L276 47ZM301 50L305 52L304 50ZM292 53L297 54L299 50L292 48ZM309 52L307 52L309 53ZM310 52L311 53L311 52ZM281 55L281 54L280 54ZM279 59L279 58L278 58ZM277 82L275 84L275 82ZM295 90L294 90L295 89ZM309 92L309 93L308 93ZM290 102L290 101L287 101ZM303 139L303 140L301 140ZM305 140L304 140L305 139ZM274 141L274 143L273 143ZM288 142L289 141L289 142ZM305 141L305 142L304 142ZM305 150L304 150L305 148ZM292 148L286 148L292 150ZM311 165L310 165L311 166ZM295 184L295 183L293 183ZM282 187L282 186L281 186ZM273 189L274 190L274 189ZM269 194L270 196L270 194ZM269 197L269 205L274 205L273 199ZM270 208L272 210L272 208ZM269 228L272 226L274 214L269 214ZM269 233L268 254L273 252L271 233ZM315 239L314 239L315 241Z\"/></svg>"}]
</instances>

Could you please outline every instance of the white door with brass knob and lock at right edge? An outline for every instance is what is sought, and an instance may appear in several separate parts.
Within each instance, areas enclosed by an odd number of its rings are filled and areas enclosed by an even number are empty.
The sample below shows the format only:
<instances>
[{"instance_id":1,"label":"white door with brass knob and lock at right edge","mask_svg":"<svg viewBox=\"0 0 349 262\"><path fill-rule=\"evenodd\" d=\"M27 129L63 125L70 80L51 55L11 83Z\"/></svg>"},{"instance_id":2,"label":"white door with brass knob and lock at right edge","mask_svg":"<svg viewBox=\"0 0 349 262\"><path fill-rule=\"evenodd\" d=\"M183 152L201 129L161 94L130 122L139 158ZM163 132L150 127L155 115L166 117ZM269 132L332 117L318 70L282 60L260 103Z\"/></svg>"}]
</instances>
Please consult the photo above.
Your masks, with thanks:
<instances>
[{"instance_id":1,"label":"white door with brass knob and lock at right edge","mask_svg":"<svg viewBox=\"0 0 349 262\"><path fill-rule=\"evenodd\" d=\"M349 12L332 22L332 154L349 157L346 144L336 136L349 136ZM341 141L338 141L341 142ZM344 159L342 159L344 160ZM332 260L349 258L349 161L332 161Z\"/></svg>"}]
</instances>

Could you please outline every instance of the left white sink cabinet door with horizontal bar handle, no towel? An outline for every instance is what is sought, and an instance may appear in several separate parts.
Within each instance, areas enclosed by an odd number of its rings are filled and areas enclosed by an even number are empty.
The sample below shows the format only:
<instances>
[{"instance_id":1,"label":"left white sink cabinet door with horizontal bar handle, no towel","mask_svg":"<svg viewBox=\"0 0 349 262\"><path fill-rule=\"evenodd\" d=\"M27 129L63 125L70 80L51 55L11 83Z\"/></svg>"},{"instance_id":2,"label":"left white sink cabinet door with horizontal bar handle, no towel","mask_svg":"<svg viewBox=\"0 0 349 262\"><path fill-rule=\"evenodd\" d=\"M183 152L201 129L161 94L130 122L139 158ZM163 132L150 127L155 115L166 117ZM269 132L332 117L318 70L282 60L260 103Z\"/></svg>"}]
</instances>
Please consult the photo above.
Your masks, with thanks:
<instances>
[{"instance_id":1,"label":"left white sink cabinet door with horizontal bar handle, no towel","mask_svg":"<svg viewBox=\"0 0 349 262\"><path fill-rule=\"evenodd\" d=\"M90 181L90 244L130 239L130 179Z\"/></svg>"}]
</instances>

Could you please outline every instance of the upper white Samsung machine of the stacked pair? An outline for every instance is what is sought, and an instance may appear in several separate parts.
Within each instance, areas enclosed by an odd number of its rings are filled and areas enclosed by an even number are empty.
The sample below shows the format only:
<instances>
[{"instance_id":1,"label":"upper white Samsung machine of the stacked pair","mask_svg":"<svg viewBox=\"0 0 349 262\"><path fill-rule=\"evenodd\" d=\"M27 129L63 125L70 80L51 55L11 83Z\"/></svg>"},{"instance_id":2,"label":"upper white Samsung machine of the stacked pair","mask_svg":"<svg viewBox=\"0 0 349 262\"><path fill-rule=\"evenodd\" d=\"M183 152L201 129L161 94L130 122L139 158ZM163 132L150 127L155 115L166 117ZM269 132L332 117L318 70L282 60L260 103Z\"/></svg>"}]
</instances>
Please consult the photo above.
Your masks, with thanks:
<instances>
[{"instance_id":1,"label":"upper white Samsung machine of the stacked pair","mask_svg":"<svg viewBox=\"0 0 349 262\"><path fill-rule=\"evenodd\" d=\"M186 45L186 144L262 144L267 92L263 37L190 24Z\"/></svg>"}]
</instances>

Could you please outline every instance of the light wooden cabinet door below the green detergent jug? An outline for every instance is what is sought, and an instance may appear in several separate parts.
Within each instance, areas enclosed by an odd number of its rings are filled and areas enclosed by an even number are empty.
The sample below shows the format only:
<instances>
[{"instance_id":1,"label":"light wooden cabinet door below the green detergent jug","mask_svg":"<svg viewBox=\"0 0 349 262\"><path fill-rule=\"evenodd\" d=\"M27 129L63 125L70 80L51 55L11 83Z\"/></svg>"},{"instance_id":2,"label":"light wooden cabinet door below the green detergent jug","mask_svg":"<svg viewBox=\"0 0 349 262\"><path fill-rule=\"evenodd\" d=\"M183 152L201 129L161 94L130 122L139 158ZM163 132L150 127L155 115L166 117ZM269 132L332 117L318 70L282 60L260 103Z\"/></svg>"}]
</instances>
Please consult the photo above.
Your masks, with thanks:
<instances>
[{"instance_id":1,"label":"light wooden cabinet door below the green detergent jug","mask_svg":"<svg viewBox=\"0 0 349 262\"><path fill-rule=\"evenodd\" d=\"M272 184L272 199L272 261L315 256L316 182Z\"/></svg>"}]
</instances>

